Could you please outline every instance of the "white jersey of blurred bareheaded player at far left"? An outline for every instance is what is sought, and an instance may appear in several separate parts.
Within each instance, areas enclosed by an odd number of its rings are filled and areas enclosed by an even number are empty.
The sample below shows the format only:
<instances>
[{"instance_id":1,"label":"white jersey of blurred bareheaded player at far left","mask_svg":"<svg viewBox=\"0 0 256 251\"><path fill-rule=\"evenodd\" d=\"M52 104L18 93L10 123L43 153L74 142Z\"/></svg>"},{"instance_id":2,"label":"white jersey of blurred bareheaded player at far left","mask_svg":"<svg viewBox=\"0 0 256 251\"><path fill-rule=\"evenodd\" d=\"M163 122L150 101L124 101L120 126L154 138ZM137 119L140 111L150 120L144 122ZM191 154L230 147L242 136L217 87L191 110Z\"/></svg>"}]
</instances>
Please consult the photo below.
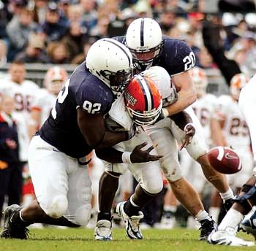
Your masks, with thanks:
<instances>
[{"instance_id":1,"label":"white jersey of blurred bareheaded player at far left","mask_svg":"<svg viewBox=\"0 0 256 251\"><path fill-rule=\"evenodd\" d=\"M30 80L24 80L20 85L12 80L4 80L1 83L1 91L13 96L15 100L15 110L22 112L25 119L29 119L31 101L34 94L39 90L38 85Z\"/></svg>"}]
</instances>

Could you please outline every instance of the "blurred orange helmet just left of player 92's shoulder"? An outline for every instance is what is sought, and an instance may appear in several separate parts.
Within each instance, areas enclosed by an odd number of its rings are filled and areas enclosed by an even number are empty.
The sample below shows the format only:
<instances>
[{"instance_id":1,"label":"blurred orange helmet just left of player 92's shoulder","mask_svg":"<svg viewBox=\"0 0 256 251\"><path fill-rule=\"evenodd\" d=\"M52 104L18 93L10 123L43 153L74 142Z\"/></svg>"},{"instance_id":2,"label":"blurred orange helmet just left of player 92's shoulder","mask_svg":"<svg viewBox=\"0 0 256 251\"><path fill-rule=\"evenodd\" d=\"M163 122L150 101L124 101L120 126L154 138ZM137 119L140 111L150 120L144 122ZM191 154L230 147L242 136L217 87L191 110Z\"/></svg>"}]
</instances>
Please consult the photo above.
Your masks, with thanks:
<instances>
[{"instance_id":1,"label":"blurred orange helmet just left of player 92's shoulder","mask_svg":"<svg viewBox=\"0 0 256 251\"><path fill-rule=\"evenodd\" d=\"M47 88L50 93L58 94L66 80L67 72L64 68L60 66L50 67L45 74L45 88Z\"/></svg>"}]
</instances>

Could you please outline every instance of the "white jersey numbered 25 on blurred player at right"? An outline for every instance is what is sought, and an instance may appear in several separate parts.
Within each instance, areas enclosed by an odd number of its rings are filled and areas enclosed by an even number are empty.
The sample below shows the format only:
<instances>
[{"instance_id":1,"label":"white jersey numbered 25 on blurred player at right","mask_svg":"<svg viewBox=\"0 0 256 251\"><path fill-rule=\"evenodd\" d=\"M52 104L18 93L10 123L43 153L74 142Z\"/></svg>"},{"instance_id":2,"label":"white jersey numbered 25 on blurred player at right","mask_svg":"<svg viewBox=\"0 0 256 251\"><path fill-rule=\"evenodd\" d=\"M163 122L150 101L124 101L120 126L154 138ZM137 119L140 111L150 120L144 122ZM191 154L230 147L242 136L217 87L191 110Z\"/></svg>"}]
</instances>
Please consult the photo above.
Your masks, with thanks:
<instances>
[{"instance_id":1,"label":"white jersey numbered 25 on blurred player at right","mask_svg":"<svg viewBox=\"0 0 256 251\"><path fill-rule=\"evenodd\" d=\"M217 116L219 120L224 121L223 134L227 146L240 150L246 147L249 149L250 138L244 116L238 107L238 102L233 100L231 96L219 96L219 107Z\"/></svg>"}]
</instances>

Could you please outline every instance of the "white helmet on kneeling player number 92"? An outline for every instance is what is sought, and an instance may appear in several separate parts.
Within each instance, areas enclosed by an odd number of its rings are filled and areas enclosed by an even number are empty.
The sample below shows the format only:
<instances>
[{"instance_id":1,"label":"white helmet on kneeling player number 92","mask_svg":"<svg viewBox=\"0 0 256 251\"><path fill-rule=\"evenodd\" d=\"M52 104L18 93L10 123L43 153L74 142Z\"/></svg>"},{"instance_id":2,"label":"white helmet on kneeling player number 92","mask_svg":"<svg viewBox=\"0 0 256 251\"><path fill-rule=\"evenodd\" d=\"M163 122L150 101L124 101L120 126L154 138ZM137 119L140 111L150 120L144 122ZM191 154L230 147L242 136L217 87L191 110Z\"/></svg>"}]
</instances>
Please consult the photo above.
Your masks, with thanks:
<instances>
[{"instance_id":1,"label":"white helmet on kneeling player number 92","mask_svg":"<svg viewBox=\"0 0 256 251\"><path fill-rule=\"evenodd\" d=\"M124 91L132 77L132 55L125 45L114 39L99 39L89 48L86 67L117 95Z\"/></svg>"}]
</instances>

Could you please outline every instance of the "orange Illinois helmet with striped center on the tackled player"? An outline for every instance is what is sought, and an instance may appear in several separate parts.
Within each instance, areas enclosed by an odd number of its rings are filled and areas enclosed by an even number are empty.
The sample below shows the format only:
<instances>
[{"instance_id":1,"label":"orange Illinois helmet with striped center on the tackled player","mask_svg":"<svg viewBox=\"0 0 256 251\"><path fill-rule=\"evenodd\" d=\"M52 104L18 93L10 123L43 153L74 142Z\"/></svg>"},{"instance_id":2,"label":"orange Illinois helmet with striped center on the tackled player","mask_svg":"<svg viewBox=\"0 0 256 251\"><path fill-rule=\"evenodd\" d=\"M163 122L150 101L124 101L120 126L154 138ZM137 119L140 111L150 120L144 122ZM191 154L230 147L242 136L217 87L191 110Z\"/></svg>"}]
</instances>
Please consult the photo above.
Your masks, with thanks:
<instances>
[{"instance_id":1,"label":"orange Illinois helmet with striped center on the tackled player","mask_svg":"<svg viewBox=\"0 0 256 251\"><path fill-rule=\"evenodd\" d=\"M162 96L148 77L136 75L124 92L124 103L137 125L151 125L162 111Z\"/></svg>"}]
</instances>

